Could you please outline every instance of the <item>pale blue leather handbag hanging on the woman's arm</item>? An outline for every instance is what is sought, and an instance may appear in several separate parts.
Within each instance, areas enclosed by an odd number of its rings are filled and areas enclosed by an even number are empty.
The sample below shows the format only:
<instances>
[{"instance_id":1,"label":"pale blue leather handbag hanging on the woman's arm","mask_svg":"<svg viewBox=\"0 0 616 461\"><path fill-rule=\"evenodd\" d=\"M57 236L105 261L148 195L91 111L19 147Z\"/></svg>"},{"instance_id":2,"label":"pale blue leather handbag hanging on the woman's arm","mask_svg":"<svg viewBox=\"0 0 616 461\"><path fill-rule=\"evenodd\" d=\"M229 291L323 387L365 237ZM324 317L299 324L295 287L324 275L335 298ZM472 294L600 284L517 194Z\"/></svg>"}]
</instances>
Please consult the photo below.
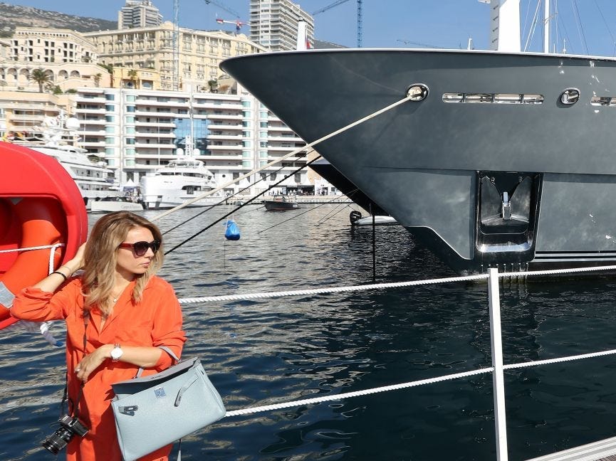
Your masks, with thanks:
<instances>
[{"instance_id":1,"label":"pale blue leather handbag hanging on the woman's arm","mask_svg":"<svg viewBox=\"0 0 616 461\"><path fill-rule=\"evenodd\" d=\"M137 460L222 418L226 410L199 357L150 376L113 383L111 402L125 461Z\"/></svg>"}]
</instances>

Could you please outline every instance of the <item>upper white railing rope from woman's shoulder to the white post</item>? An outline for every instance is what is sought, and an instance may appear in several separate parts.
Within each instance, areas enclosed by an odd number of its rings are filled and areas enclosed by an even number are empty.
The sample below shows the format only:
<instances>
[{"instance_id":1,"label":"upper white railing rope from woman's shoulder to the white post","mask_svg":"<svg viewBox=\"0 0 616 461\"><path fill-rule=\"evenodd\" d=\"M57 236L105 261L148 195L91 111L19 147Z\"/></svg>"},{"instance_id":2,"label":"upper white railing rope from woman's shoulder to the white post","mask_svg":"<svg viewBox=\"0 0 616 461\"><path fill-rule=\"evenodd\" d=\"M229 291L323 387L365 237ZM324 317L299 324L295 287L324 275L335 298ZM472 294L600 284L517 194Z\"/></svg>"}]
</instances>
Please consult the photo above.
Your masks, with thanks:
<instances>
[{"instance_id":1,"label":"upper white railing rope from woman's shoulder to the white post","mask_svg":"<svg viewBox=\"0 0 616 461\"><path fill-rule=\"evenodd\" d=\"M412 287L416 285L432 285L436 283L459 282L464 280L483 280L488 278L487 274L466 275L464 277L446 277L431 280L414 280L412 282L393 282L393 283L376 283L371 285L353 285L348 287L330 287L330 288L315 288L313 290L291 290L283 292L268 292L268 293L246 293L246 295L226 295L226 296L206 296L192 297L179 299L180 304L191 304L193 302L212 302L212 301L236 301L236 300L254 300L264 299L268 297L282 296L304 296L304 295L320 295L323 293L340 293L353 292L362 290L380 290L384 288L400 288Z\"/></svg>"}]
</instances>

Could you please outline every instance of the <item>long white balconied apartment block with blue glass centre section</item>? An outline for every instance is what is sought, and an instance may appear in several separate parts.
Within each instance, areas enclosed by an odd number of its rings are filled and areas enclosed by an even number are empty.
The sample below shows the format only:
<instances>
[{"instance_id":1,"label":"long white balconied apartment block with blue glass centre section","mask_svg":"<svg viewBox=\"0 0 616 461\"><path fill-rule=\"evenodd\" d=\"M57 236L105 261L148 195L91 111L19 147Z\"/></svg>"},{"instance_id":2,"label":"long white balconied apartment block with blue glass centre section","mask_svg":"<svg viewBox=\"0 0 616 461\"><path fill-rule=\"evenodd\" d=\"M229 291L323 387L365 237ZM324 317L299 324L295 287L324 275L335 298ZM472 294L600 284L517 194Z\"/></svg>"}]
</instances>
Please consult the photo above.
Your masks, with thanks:
<instances>
[{"instance_id":1,"label":"long white balconied apartment block with blue glass centre section","mask_svg":"<svg viewBox=\"0 0 616 461\"><path fill-rule=\"evenodd\" d=\"M224 184L305 145L248 93L82 88L75 102L81 147L104 157L122 183L137 183L194 149L194 157ZM262 171L259 184L252 176L229 191L247 187L245 194L257 194L305 164L300 153ZM306 169L281 186L314 190Z\"/></svg>"}]
</instances>

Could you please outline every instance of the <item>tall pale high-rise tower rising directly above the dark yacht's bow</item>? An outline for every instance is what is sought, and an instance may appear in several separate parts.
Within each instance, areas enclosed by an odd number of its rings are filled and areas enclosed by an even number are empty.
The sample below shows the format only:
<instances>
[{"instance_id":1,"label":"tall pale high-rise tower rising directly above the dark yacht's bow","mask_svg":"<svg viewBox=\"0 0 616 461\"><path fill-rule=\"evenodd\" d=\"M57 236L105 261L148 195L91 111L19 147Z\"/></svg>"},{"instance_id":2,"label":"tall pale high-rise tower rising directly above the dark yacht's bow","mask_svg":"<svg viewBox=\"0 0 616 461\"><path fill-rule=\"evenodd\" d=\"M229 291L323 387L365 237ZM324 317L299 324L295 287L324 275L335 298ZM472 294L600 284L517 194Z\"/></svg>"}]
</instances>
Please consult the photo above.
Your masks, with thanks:
<instances>
[{"instance_id":1,"label":"tall pale high-rise tower rising directly above the dark yacht's bow","mask_svg":"<svg viewBox=\"0 0 616 461\"><path fill-rule=\"evenodd\" d=\"M314 19L290 0L251 0L250 39L269 51L294 50L298 23L306 22L306 41L314 43Z\"/></svg>"}]
</instances>

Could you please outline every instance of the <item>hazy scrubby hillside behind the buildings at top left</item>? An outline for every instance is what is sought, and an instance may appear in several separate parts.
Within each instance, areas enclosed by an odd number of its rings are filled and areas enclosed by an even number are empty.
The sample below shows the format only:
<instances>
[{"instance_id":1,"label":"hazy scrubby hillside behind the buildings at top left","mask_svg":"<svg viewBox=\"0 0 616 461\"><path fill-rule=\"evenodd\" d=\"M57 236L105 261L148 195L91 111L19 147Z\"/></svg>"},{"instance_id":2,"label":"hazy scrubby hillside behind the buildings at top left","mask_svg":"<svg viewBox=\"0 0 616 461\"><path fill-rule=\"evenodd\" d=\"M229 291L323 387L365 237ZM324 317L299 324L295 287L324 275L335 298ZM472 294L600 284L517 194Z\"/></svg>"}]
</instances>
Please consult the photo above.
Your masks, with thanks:
<instances>
[{"instance_id":1,"label":"hazy scrubby hillside behind the buildings at top left","mask_svg":"<svg viewBox=\"0 0 616 461\"><path fill-rule=\"evenodd\" d=\"M0 36L10 37L16 26L68 28L90 32L118 28L118 22L0 2Z\"/></svg>"}]
</instances>

